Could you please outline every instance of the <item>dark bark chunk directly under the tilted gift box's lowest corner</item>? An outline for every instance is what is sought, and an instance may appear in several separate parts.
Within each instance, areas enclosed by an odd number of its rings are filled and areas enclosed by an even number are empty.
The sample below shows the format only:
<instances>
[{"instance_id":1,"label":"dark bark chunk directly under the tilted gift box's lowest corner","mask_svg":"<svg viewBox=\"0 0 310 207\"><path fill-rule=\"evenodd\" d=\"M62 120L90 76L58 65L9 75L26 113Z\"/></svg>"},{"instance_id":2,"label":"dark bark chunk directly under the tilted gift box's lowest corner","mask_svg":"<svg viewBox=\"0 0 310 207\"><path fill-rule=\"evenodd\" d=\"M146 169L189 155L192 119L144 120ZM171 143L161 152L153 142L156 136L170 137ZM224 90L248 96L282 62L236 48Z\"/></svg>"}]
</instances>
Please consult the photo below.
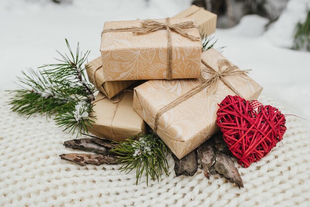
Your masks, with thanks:
<instances>
[{"instance_id":1,"label":"dark bark chunk directly under the tilted gift box's lowest corner","mask_svg":"<svg viewBox=\"0 0 310 207\"><path fill-rule=\"evenodd\" d=\"M194 151L184 156L182 159L178 159L172 154L174 159L174 171L176 176L187 175L193 176L198 169L198 157Z\"/></svg>"}]
</instances>

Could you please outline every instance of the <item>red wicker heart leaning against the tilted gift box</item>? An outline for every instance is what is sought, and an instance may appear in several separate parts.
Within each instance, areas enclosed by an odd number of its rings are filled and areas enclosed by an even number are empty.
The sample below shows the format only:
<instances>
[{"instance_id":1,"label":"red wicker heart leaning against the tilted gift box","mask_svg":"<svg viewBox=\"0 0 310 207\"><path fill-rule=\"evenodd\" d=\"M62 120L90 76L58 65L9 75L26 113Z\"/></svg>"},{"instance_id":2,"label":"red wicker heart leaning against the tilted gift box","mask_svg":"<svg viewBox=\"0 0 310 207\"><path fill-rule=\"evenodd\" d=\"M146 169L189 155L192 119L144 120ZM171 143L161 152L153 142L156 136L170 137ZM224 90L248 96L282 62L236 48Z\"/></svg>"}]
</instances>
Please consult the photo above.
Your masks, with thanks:
<instances>
[{"instance_id":1,"label":"red wicker heart leaning against the tilted gift box","mask_svg":"<svg viewBox=\"0 0 310 207\"><path fill-rule=\"evenodd\" d=\"M216 123L238 163L249 167L282 140L285 117L271 105L255 106L239 96L227 96L219 105Z\"/></svg>"}]
</instances>

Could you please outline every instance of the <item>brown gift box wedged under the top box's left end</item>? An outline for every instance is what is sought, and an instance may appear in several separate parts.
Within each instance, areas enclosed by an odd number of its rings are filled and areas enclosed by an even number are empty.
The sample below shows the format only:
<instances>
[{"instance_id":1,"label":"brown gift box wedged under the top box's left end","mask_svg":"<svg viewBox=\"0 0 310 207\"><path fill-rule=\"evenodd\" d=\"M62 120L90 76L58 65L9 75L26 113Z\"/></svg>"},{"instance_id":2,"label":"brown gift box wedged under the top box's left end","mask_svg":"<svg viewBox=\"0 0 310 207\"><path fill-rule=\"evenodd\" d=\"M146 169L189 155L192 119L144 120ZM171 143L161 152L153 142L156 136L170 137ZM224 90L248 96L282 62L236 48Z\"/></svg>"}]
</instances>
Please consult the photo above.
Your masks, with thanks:
<instances>
[{"instance_id":1,"label":"brown gift box wedged under the top box's left end","mask_svg":"<svg viewBox=\"0 0 310 207\"><path fill-rule=\"evenodd\" d=\"M85 67L87 67L86 72L88 79L92 84L95 85L95 82L93 80L93 75L96 69L102 65L101 57L98 57L87 64L85 64ZM99 68L96 71L96 87L99 91L101 91L108 99L111 99L118 93L122 92L124 89L128 88L132 84L134 84L136 81L106 81L103 76L103 68Z\"/></svg>"}]
</instances>

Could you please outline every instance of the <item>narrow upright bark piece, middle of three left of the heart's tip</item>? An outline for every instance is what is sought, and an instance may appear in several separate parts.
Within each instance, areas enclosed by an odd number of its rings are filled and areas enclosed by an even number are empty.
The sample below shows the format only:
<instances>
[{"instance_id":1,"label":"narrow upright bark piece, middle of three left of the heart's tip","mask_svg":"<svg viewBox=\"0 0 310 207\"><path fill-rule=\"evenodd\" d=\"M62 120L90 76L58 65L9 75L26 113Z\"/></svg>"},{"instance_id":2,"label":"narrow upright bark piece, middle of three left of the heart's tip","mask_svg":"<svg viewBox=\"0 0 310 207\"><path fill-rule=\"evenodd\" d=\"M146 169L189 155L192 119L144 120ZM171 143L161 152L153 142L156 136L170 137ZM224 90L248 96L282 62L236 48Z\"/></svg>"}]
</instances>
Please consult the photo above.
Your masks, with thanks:
<instances>
[{"instance_id":1,"label":"narrow upright bark piece, middle of three left of the heart's tip","mask_svg":"<svg viewBox=\"0 0 310 207\"><path fill-rule=\"evenodd\" d=\"M205 176L209 179L210 169L215 162L213 150L213 139L207 140L204 144L197 148L198 159L201 160L202 169L205 171Z\"/></svg>"}]
</instances>

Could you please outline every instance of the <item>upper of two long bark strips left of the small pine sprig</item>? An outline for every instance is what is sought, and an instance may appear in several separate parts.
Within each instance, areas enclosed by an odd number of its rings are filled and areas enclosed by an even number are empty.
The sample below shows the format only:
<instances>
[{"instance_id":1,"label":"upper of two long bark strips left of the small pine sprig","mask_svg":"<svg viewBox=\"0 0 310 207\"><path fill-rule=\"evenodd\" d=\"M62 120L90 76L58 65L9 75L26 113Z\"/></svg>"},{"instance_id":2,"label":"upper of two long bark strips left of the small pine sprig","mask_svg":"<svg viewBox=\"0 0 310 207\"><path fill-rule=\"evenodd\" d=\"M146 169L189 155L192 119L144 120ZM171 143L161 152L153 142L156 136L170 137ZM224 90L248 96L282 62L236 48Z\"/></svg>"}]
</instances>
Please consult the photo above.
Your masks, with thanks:
<instances>
[{"instance_id":1,"label":"upper of two long bark strips left of the small pine sprig","mask_svg":"<svg viewBox=\"0 0 310 207\"><path fill-rule=\"evenodd\" d=\"M104 141L101 141L99 139L96 140L97 143L95 143L95 139L97 138L82 138L82 139L74 139L74 140L68 140L63 143L63 145L66 148L71 148L74 150L83 150L88 152L94 152L99 153L103 155L111 154L109 151L111 149L110 143L106 143L104 146L102 143ZM101 144L98 144L101 143Z\"/></svg>"}]
</instances>

